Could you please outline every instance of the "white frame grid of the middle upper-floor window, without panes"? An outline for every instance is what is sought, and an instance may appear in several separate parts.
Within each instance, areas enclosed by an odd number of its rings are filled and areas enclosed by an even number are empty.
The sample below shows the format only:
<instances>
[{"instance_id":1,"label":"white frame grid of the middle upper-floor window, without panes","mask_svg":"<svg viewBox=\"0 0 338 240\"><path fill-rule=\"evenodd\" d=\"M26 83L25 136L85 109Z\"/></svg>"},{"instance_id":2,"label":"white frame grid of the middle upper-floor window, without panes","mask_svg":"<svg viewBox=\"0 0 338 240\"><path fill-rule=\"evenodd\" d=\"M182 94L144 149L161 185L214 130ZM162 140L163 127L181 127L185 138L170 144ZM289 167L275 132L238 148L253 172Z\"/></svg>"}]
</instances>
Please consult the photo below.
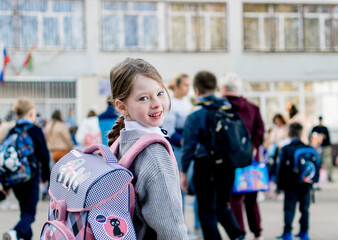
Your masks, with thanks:
<instances>
[{"instance_id":1,"label":"white frame grid of the middle upper-floor window, without panes","mask_svg":"<svg viewBox=\"0 0 338 240\"><path fill-rule=\"evenodd\" d=\"M105 1L109 2L109 1ZM132 4L135 3L135 1L128 1L123 2L124 4L127 4L127 11L125 10L111 10L111 9L104 9L103 6L101 6L101 20L104 19L105 16L117 16L119 26L118 26L118 44L109 44L109 46L104 46L104 34L107 34L104 31L103 23L101 22L101 49L106 51L111 50L143 50L143 51L217 51L217 50L226 50L227 49L227 33L226 33L226 12L207 12L207 11L173 11L171 9L171 2L146 2L146 3L153 3L156 4L156 11L135 11L132 9ZM172 2L175 4L175 2ZM188 3L185 2L184 4L192 5L192 6L198 6L199 3ZM207 4L213 4L213 3L207 3ZM215 3L220 4L220 3ZM225 3L224 3L225 4ZM226 9L226 6L225 6ZM137 16L138 17L138 44L137 46L126 46L125 44L125 31L124 31L124 23L123 23L123 17L124 16ZM151 46L151 47L145 47L143 44L143 16L154 16L157 17L158 20L158 45L157 46ZM186 43L185 47L182 48L175 48L172 43L172 25L171 25L171 17L173 16L179 16L184 17L186 22ZM192 19L194 17L201 17L203 19L203 24L205 26L205 34L204 34L204 46L197 49L194 47L194 41L196 39L193 39L193 31L192 31ZM223 38L225 39L224 47L213 49L211 44L211 31L210 31L210 23L211 18L220 18L224 21L224 35Z\"/></svg>"}]
</instances>

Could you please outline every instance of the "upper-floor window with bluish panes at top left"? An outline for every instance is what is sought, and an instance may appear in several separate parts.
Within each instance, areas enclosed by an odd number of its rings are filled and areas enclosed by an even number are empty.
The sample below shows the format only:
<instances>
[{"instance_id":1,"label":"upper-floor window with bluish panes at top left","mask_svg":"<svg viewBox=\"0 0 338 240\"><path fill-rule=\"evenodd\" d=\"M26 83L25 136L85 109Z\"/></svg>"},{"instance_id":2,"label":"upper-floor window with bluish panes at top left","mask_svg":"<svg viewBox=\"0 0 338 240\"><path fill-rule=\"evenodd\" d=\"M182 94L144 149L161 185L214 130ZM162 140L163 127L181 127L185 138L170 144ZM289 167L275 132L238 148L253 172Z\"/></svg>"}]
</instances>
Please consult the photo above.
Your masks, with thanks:
<instances>
[{"instance_id":1,"label":"upper-floor window with bluish panes at top left","mask_svg":"<svg viewBox=\"0 0 338 240\"><path fill-rule=\"evenodd\" d=\"M1 0L0 39L21 49L82 49L83 11L83 0Z\"/></svg>"}]
</instances>

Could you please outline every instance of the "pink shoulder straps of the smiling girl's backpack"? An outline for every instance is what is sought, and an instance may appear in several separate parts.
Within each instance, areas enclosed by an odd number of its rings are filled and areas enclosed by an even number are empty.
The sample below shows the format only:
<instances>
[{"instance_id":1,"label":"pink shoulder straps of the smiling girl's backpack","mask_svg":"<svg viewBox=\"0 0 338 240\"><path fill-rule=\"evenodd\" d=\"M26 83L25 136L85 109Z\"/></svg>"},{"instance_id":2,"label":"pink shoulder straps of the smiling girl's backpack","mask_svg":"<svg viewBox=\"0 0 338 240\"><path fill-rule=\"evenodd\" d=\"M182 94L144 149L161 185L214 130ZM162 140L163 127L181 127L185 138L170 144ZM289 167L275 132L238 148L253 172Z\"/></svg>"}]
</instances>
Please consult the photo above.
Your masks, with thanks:
<instances>
[{"instance_id":1,"label":"pink shoulder straps of the smiling girl's backpack","mask_svg":"<svg viewBox=\"0 0 338 240\"><path fill-rule=\"evenodd\" d=\"M119 147L119 140L120 140L119 138L116 139L113 145L110 147L110 150L113 152L114 155L117 154L118 147ZM170 159L173 163L175 172L177 173L178 168L177 168L177 163L176 163L173 149L170 143L168 142L168 140L166 140L162 135L158 133L148 133L140 137L134 143L134 145L126 152L126 154L122 156L122 158L118 161L118 163L125 168L129 168L130 165L133 163L134 159L137 157L137 155L140 152L142 152L146 147L148 147L150 144L153 144L153 143L161 143L165 146L165 148L167 149L170 155Z\"/></svg>"}]
</instances>

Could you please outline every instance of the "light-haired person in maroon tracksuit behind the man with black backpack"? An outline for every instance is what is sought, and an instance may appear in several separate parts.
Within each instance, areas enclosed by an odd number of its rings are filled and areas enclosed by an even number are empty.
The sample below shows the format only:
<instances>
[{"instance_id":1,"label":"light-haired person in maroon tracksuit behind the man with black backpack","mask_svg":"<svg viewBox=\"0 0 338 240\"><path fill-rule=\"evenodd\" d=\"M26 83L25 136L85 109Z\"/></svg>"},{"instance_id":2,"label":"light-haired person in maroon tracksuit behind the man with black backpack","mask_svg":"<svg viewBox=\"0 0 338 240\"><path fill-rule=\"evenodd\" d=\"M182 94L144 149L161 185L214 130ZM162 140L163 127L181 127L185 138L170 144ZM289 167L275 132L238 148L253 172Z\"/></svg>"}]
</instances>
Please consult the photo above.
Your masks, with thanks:
<instances>
[{"instance_id":1,"label":"light-haired person in maroon tracksuit behind the man with black backpack","mask_svg":"<svg viewBox=\"0 0 338 240\"><path fill-rule=\"evenodd\" d=\"M264 123L259 108L244 97L239 96L242 90L242 80L237 74L229 73L224 76L220 81L220 90L222 96L231 103L232 108L239 113L247 127L252 145L254 146L255 159L259 162L258 150L264 139ZM236 193L230 197L231 209L236 216L239 226L245 231L242 210L243 201L249 228L255 235L255 240L262 240L261 215L257 203L257 192Z\"/></svg>"}]
</instances>

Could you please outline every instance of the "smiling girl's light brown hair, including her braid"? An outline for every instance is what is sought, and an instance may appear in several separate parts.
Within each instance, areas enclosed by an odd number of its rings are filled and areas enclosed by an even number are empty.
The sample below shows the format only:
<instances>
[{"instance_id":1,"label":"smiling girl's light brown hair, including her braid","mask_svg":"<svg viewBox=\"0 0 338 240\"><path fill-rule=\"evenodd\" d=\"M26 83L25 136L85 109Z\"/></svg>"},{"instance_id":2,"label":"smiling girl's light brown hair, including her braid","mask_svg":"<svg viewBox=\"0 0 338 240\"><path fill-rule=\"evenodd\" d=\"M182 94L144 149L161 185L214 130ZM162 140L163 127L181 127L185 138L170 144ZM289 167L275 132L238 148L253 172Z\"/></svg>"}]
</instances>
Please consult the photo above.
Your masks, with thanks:
<instances>
[{"instance_id":1,"label":"smiling girl's light brown hair, including her braid","mask_svg":"<svg viewBox=\"0 0 338 240\"><path fill-rule=\"evenodd\" d=\"M112 92L112 101L125 101L131 93L133 84L138 75L149 77L160 84L166 91L162 77L147 61L140 58L127 58L123 62L117 64L110 71L110 86ZM170 96L169 96L170 100ZM124 117L121 116L108 134L108 145L110 146L119 137L120 131L124 128Z\"/></svg>"}]
</instances>

